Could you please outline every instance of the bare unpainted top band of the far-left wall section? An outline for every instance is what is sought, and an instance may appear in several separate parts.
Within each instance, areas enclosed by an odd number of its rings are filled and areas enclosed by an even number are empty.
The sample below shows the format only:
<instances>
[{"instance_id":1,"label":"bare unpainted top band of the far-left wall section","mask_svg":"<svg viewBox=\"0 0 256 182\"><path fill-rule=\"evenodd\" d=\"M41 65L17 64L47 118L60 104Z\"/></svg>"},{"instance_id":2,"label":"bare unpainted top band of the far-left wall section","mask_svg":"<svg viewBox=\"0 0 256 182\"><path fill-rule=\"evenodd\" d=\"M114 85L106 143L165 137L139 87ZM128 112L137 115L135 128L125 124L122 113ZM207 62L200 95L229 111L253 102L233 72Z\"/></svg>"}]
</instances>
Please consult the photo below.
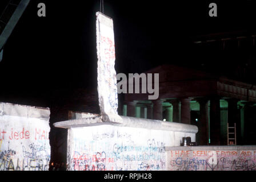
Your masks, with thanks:
<instances>
[{"instance_id":1,"label":"bare unpainted top band of the far-left wall section","mask_svg":"<svg viewBox=\"0 0 256 182\"><path fill-rule=\"evenodd\" d=\"M38 118L49 121L49 107L35 107L19 104L0 102L0 116L11 115L26 118Z\"/></svg>"}]
</instances>

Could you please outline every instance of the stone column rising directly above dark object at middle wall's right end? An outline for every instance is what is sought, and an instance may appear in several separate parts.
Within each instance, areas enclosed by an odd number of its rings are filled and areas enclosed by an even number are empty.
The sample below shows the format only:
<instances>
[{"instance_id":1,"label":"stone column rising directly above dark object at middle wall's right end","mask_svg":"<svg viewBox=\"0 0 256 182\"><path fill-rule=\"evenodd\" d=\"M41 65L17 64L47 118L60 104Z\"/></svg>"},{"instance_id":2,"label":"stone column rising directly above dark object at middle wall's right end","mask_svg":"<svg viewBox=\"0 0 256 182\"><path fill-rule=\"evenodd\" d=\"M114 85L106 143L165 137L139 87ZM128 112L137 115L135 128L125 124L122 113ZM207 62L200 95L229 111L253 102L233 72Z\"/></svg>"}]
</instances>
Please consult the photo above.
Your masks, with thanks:
<instances>
[{"instance_id":1,"label":"stone column rising directly above dark object at middle wall's right end","mask_svg":"<svg viewBox=\"0 0 256 182\"><path fill-rule=\"evenodd\" d=\"M190 101L191 98L181 99L181 123L190 124Z\"/></svg>"}]
</instances>

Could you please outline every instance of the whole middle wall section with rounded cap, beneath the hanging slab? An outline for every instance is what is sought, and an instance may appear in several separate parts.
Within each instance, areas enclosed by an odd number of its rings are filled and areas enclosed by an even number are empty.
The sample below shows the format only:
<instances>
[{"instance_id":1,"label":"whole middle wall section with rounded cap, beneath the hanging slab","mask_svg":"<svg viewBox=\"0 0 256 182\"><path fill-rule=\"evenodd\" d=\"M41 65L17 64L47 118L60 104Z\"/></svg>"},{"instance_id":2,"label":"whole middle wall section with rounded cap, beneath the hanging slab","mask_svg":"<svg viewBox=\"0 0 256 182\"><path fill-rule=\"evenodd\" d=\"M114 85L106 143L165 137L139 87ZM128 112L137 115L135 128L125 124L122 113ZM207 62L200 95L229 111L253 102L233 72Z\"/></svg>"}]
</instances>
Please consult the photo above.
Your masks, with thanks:
<instances>
[{"instance_id":1,"label":"whole middle wall section with rounded cap, beneath the hanging slab","mask_svg":"<svg viewBox=\"0 0 256 182\"><path fill-rule=\"evenodd\" d=\"M123 123L102 122L99 116L54 123L68 129L67 170L163 171L166 146L182 137L195 141L197 127L181 123L123 117Z\"/></svg>"}]
</instances>

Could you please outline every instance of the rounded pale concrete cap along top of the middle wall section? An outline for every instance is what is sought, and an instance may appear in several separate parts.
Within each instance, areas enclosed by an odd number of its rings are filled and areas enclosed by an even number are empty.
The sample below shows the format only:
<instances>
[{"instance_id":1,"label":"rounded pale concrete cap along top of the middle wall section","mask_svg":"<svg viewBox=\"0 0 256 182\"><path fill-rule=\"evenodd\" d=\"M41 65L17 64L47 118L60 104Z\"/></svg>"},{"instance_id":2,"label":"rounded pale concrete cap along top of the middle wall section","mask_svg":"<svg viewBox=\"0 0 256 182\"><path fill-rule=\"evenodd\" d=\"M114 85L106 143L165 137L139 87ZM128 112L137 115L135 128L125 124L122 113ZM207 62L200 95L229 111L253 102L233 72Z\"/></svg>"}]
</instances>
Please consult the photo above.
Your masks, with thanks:
<instances>
[{"instance_id":1,"label":"rounded pale concrete cap along top of the middle wall section","mask_svg":"<svg viewBox=\"0 0 256 182\"><path fill-rule=\"evenodd\" d=\"M151 130L166 130L166 131L177 131L184 133L197 133L198 127L194 125L187 125L183 123L171 123L153 119L133 118L120 116L122 123L117 122L103 122L101 116L92 118L79 118L71 119L68 121L56 122L53 125L55 127L61 127L70 129L71 127L87 127L95 125L114 125L121 127L136 127L142 129Z\"/></svg>"}]
</instances>

